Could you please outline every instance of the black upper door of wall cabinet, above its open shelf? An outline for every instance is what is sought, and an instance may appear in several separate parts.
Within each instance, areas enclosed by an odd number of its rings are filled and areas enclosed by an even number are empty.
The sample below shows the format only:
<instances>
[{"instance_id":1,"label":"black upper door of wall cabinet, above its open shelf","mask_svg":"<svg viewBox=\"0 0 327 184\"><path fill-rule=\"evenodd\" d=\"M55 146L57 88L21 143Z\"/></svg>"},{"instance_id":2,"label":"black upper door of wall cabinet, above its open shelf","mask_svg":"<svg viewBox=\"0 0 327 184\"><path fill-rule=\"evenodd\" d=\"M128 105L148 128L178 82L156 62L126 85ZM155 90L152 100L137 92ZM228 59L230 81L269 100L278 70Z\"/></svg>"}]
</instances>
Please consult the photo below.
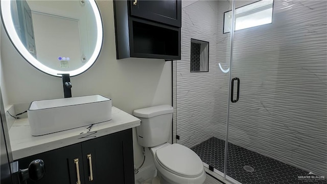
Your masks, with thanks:
<instances>
[{"instance_id":1,"label":"black upper door of wall cabinet, above its open shelf","mask_svg":"<svg viewBox=\"0 0 327 184\"><path fill-rule=\"evenodd\" d=\"M132 16L154 20L170 26L181 27L181 1L144 1L129 2Z\"/></svg>"}]
</instances>

